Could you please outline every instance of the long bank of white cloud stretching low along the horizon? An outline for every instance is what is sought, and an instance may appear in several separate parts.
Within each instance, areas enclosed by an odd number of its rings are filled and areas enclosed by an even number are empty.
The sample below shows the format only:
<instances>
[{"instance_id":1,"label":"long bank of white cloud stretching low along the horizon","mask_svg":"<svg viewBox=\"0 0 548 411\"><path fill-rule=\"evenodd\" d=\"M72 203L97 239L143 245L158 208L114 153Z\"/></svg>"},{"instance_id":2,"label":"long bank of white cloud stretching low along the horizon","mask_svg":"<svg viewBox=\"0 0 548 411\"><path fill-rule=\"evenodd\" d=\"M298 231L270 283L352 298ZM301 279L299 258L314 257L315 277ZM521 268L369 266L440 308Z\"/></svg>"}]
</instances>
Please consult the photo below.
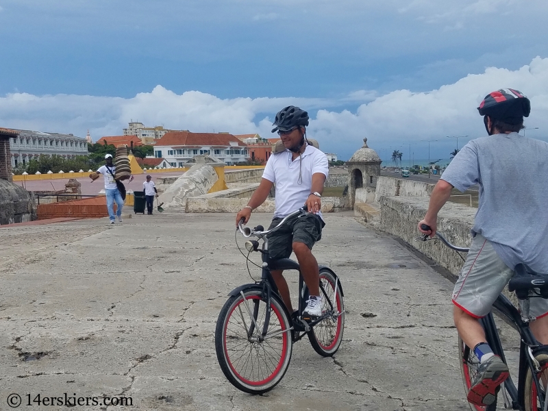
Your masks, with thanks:
<instances>
[{"instance_id":1,"label":"long bank of white cloud stretching low along the horizon","mask_svg":"<svg viewBox=\"0 0 548 411\"><path fill-rule=\"evenodd\" d=\"M535 58L515 71L490 67L482 74L467 75L430 92L395 90L377 95L371 90L358 90L336 99L219 99L198 91L177 95L162 86L131 99L18 92L0 97L0 127L77 136L85 136L90 129L92 138L97 140L121 134L122 128L133 120L193 132L259 132L270 137L275 113L293 104L311 113L308 135L318 139L324 151L338 153L345 160L362 145L364 137L375 149L416 142L419 150L425 145L420 140L439 139L431 147L434 155L436 147L445 153L444 147L454 146L454 140L445 136L484 135L476 107L488 92L507 87L521 90L532 101L532 114L526 124L539 128L528 136L547 136L548 58ZM345 110L356 102L360 105L355 112ZM463 144L459 140L461 147Z\"/></svg>"}]
</instances>

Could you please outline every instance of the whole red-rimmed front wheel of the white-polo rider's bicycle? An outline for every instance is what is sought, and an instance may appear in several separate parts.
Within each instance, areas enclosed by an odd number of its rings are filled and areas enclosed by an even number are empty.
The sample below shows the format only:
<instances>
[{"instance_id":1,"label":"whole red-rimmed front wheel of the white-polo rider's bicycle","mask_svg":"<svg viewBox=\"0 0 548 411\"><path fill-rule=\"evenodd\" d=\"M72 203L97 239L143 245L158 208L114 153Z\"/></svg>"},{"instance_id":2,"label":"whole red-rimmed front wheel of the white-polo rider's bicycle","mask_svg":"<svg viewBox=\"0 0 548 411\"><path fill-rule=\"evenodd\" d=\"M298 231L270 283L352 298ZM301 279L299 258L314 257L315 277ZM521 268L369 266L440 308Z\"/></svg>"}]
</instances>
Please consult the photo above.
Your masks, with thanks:
<instances>
[{"instance_id":1,"label":"whole red-rimmed front wheel of the white-polo rider's bicycle","mask_svg":"<svg viewBox=\"0 0 548 411\"><path fill-rule=\"evenodd\" d=\"M236 388L262 394L278 384L292 353L291 325L283 302L272 295L265 336L267 305L258 289L248 289L228 299L215 329L217 360Z\"/></svg>"}]
</instances>

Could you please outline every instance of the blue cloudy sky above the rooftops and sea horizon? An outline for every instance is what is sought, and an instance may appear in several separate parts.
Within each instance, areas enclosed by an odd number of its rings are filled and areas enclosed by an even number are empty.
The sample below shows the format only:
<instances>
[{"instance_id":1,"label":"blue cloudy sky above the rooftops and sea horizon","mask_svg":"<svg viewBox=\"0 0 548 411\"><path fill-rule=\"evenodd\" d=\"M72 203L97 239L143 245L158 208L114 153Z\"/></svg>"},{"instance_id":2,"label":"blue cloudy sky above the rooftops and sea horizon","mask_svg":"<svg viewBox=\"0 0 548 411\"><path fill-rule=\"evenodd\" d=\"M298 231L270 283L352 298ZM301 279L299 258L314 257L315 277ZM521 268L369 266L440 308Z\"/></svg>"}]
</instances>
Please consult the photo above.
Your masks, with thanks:
<instances>
[{"instance_id":1,"label":"blue cloudy sky above the rooftops and sea horizon","mask_svg":"<svg viewBox=\"0 0 548 411\"><path fill-rule=\"evenodd\" d=\"M545 0L0 0L0 127L94 140L131 120L270 137L285 105L348 160L404 163L485 134L498 88L548 139ZM538 127L538 129L536 129ZM467 136L467 137L464 137Z\"/></svg>"}]
</instances>

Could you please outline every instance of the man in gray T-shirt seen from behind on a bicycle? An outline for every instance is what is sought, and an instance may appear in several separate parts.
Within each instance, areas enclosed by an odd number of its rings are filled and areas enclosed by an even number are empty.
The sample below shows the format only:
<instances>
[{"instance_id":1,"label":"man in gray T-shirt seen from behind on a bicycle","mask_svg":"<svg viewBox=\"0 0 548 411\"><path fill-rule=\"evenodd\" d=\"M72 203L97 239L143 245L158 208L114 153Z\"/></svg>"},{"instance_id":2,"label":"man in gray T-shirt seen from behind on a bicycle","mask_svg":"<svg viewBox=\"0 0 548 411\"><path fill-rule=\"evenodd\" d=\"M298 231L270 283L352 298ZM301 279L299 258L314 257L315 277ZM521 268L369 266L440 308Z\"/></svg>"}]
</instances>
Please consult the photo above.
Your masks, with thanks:
<instances>
[{"instance_id":1,"label":"man in gray T-shirt seen from behind on a bicycle","mask_svg":"<svg viewBox=\"0 0 548 411\"><path fill-rule=\"evenodd\" d=\"M523 117L530 101L511 88L491 92L479 105L488 136L471 140L453 158L430 197L419 231L436 234L438 212L453 187L461 192L479 185L470 252L453 290L453 318L458 334L479 358L467 399L488 406L508 377L508 366L493 354L478 319L486 316L504 286L524 263L548 273L548 144L525 138ZM431 230L421 228L428 225ZM535 338L548 344L548 300L532 299L530 323Z\"/></svg>"}]
</instances>

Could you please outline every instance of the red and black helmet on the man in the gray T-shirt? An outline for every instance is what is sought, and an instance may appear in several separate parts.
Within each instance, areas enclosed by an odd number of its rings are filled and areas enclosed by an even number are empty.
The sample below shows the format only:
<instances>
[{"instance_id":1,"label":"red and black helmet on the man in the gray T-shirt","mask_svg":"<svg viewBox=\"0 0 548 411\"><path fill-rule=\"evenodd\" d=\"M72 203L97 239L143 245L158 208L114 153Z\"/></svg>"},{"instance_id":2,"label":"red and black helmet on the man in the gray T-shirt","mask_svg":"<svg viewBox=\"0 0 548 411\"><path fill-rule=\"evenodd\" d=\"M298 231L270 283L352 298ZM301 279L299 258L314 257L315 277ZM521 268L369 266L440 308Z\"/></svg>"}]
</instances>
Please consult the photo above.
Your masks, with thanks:
<instances>
[{"instance_id":1,"label":"red and black helmet on the man in the gray T-shirt","mask_svg":"<svg viewBox=\"0 0 548 411\"><path fill-rule=\"evenodd\" d=\"M490 92L477 108L479 115L508 124L523 123L523 117L531 112L531 102L520 91L501 88Z\"/></svg>"}]
</instances>

